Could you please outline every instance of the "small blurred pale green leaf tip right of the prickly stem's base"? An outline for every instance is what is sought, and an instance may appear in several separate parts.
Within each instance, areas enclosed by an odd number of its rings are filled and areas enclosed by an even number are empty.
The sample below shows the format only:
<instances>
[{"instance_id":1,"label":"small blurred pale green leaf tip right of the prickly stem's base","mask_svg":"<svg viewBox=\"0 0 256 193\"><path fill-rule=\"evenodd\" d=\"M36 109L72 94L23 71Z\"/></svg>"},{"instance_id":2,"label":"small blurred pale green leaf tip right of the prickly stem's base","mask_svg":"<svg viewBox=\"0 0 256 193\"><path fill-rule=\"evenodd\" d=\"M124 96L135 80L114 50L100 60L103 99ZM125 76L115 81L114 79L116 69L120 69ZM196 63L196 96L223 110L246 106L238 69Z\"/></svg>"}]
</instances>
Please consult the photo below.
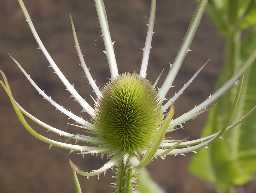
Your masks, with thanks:
<instances>
[{"instance_id":1,"label":"small blurred pale green leaf tip right of the prickly stem's base","mask_svg":"<svg viewBox=\"0 0 256 193\"><path fill-rule=\"evenodd\" d=\"M140 193L164 193L164 191L150 178L146 168L139 174L138 189Z\"/></svg>"}]
</instances>

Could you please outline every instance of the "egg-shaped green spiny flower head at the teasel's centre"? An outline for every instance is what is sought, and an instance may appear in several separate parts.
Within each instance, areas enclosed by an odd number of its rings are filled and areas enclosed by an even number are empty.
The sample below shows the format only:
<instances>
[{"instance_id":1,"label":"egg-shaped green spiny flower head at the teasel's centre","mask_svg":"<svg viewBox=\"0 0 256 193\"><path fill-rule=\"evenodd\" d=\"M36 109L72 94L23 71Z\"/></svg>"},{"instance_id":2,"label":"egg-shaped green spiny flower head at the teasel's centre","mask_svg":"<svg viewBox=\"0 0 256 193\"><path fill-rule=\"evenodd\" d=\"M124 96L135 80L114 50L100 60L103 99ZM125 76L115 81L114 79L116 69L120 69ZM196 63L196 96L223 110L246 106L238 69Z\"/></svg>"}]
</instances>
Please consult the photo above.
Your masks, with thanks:
<instances>
[{"instance_id":1,"label":"egg-shaped green spiny flower head at the teasel's centre","mask_svg":"<svg viewBox=\"0 0 256 193\"><path fill-rule=\"evenodd\" d=\"M112 150L141 152L163 120L157 91L138 74L123 73L108 82L96 101L94 123Z\"/></svg>"}]
</instances>

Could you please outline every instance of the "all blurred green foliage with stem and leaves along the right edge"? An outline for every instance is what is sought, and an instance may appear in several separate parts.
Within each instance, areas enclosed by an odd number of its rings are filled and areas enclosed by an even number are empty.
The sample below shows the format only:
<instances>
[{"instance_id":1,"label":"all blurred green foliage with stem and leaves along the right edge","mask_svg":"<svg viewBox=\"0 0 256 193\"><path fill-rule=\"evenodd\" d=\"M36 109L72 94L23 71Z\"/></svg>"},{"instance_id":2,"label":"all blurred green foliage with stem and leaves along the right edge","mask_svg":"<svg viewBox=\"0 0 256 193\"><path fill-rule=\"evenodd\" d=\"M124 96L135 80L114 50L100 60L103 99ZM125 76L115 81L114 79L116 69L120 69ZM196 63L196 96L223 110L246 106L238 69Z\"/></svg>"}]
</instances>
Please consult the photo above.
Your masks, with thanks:
<instances>
[{"instance_id":1,"label":"all blurred green foliage with stem and leaves along the right edge","mask_svg":"<svg viewBox=\"0 0 256 193\"><path fill-rule=\"evenodd\" d=\"M215 89L223 85L248 59L256 47L256 0L211 0L206 9L219 33L226 40L225 66ZM256 104L255 62L245 73L242 94L232 122L239 120ZM222 129L237 86L225 93L210 111L202 137ZM234 186L249 182L256 171L256 113L236 128L201 149L192 158L190 171L215 184L219 192L230 192ZM231 122L231 123L232 123Z\"/></svg>"}]
</instances>

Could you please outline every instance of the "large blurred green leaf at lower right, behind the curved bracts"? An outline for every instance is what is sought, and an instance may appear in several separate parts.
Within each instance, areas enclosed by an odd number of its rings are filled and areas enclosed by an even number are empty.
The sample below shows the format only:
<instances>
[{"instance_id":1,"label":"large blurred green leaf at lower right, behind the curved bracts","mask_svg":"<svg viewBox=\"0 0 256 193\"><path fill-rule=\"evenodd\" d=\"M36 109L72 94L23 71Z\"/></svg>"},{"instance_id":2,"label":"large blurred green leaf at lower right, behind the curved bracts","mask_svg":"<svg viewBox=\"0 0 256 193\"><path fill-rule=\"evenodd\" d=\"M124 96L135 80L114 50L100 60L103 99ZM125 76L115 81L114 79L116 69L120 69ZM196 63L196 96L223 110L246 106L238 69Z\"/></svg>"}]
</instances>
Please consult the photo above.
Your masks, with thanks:
<instances>
[{"instance_id":1,"label":"large blurred green leaf at lower right, behind the curved bracts","mask_svg":"<svg viewBox=\"0 0 256 193\"><path fill-rule=\"evenodd\" d=\"M256 45L256 30L252 31L241 45L241 61L244 62ZM238 108L233 121L241 118L256 104L256 62L245 73L244 84ZM220 79L217 84L222 84ZM224 98L225 97L225 98ZM221 130L227 118L226 99L233 98L229 92L217 101L216 107L209 114L209 120L202 136ZM236 128L224 133L223 138L201 149L194 155L190 171L200 178L215 183L220 192L229 192L233 186L240 186L250 181L256 171L256 113L242 121ZM233 122L232 121L232 122Z\"/></svg>"}]
</instances>

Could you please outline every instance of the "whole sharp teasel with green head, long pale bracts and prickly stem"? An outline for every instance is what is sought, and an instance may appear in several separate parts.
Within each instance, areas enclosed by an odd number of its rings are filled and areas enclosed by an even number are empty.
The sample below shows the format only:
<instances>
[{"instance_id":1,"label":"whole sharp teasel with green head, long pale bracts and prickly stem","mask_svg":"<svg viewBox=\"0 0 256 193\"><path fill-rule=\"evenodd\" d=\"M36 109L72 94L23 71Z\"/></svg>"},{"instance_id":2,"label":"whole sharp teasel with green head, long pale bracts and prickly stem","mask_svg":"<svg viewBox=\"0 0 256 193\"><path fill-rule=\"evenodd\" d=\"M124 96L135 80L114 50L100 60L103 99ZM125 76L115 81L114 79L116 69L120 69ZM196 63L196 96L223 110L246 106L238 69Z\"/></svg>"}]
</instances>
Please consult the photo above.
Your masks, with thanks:
<instances>
[{"instance_id":1,"label":"whole sharp teasel with green head, long pale bracts and prickly stem","mask_svg":"<svg viewBox=\"0 0 256 193\"><path fill-rule=\"evenodd\" d=\"M231 124L231 119L241 94L244 74L256 58L255 49L248 60L224 85L222 85L222 87L190 111L174 118L174 109L178 108L175 106L175 101L180 95L182 95L182 93L184 93L186 88L209 62L208 60L203 64L202 67L192 75L190 80L184 83L183 87L172 97L169 98L166 96L167 92L173 87L172 83L180 70L186 54L191 51L190 44L201 21L207 5L207 0L199 1L180 50L174 62L170 64L170 70L163 84L159 88L157 87L157 83L161 74L154 83L151 83L146 79L151 41L154 33L153 26L155 22L156 0L152 0L151 3L150 18L149 23L147 24L148 31L145 46L143 48L141 70L139 73L124 72L122 74L118 73L118 66L114 54L114 42L110 36L103 0L95 0L96 11L105 45L105 51L103 52L106 54L111 74L109 81L102 88L97 86L84 61L84 56L80 49L73 20L70 15L75 48L86 78L88 79L88 82L95 94L95 96L92 96L94 100L93 107L80 96L80 94L74 89L74 85L70 84L64 74L57 67L38 36L23 1L19 0L19 3L31 32L39 45L38 49L44 53L46 59L50 63L50 67L53 68L54 73L63 82L66 90L70 92L71 98L81 105L82 112L88 113L88 115L91 116L91 120L87 121L82 117L75 115L71 111L65 109L62 104L54 101L44 92L43 89L39 88L22 66L12 56L10 57L45 100L77 123L68 124L81 128L86 134L68 133L66 131L59 130L44 123L43 121L40 121L27 112L15 101L7 78L2 71L0 71L2 75L1 85L9 96L19 120L22 122L24 127L34 135L34 137L50 144L50 147L57 146L59 148L68 149L71 150L71 152L78 152L82 156L85 154L100 154L101 157L104 155L107 156L108 161L104 163L101 168L95 169L91 172L82 171L75 165L75 163L72 162L72 160L69 160L74 173L76 192L82 192L76 174L80 174L89 179L91 176L99 177L100 174L105 174L108 169L113 170L113 177L116 179L112 184L115 189L114 192L131 193L139 191L137 190L137 183L140 183L138 177L142 169L150 163L152 159L158 157L165 159L168 155L184 155L188 152L196 153L196 150L198 149L207 148L208 144L221 138L221 135L225 131L232 129L241 123L241 121L246 119L256 108L254 107L251 111L242 116L241 119ZM167 133L183 128L182 124L184 122L194 119L198 115L214 107L214 101L221 97L234 84L238 84L237 95L226 124L223 125L222 130L197 140L188 140L188 138L172 140L165 137ZM39 134L27 123L24 115L36 122L38 125L44 127L47 131L51 131L59 136L65 137L67 142L52 140ZM73 143L70 142L72 140Z\"/></svg>"}]
</instances>

